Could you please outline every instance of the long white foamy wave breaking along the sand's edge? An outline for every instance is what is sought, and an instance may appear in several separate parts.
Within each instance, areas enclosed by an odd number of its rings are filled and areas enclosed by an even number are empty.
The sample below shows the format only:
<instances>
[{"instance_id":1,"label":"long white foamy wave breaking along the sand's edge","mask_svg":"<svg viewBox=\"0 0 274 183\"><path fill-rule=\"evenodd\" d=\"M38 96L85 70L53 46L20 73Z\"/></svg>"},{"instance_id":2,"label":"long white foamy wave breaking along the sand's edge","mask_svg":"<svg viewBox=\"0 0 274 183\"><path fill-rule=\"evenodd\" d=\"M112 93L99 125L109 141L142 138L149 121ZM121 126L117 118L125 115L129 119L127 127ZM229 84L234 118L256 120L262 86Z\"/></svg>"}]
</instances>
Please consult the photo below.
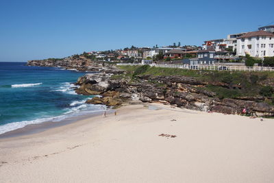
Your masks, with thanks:
<instances>
[{"instance_id":1,"label":"long white foamy wave breaking along the sand's edge","mask_svg":"<svg viewBox=\"0 0 274 183\"><path fill-rule=\"evenodd\" d=\"M69 108L67 112L64 112L64 114L61 114L58 117L45 117L41 119L34 119L31 121L16 121L13 123L7 123L5 125L0 125L0 134L4 134L5 132L10 132L12 130L25 127L27 125L39 124L47 121L59 122L64 119L69 119L71 117L77 117L84 114L100 112L105 109L106 109L106 106L103 106L103 105L82 104L77 107Z\"/></svg>"}]
</instances>

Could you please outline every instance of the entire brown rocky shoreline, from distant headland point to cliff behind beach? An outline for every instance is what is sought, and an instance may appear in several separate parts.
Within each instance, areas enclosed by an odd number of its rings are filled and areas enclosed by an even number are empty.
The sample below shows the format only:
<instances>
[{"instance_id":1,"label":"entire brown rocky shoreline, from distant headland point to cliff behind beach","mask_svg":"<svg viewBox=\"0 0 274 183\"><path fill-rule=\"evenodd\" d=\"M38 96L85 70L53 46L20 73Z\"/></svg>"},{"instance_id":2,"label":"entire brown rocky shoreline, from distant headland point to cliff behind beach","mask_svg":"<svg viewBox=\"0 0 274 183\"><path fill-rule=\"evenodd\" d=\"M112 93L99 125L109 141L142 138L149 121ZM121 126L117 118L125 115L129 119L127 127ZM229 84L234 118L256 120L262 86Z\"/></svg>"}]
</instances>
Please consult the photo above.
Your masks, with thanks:
<instances>
[{"instance_id":1,"label":"entire brown rocky shoreline, from distant headland point to cliff behind beach","mask_svg":"<svg viewBox=\"0 0 274 183\"><path fill-rule=\"evenodd\" d=\"M200 80L189 75L175 75L173 71L168 75L141 74L138 71L132 77L133 72L119 69L107 62L95 62L84 56L68 57L63 59L30 60L29 66L58 66L64 69L76 69L77 71L99 71L99 73L86 74L79 77L76 84L79 88L76 93L82 95L100 95L86 103L105 104L106 106L121 106L125 102L160 102L173 106L188 108L191 110L203 110L221 112L225 114L240 114L244 108L250 114L258 116L274 116L273 90L272 96L264 95L239 95L234 97L220 97L217 92L208 90L208 86L221 89L244 90L247 93L247 85L260 82L253 88L261 86L274 87L272 77L265 77L261 80L258 76L244 82L232 82L229 74L223 79L221 76L214 76L211 80ZM125 77L125 75L131 75ZM215 73L216 74L216 73ZM198 73L199 75L199 73ZM264 77L264 75L262 75ZM228 82L227 82L228 80ZM230 81L229 81L230 80ZM242 89L244 88L244 89ZM252 87L251 87L252 88ZM250 89L253 90L253 89Z\"/></svg>"}]
</instances>

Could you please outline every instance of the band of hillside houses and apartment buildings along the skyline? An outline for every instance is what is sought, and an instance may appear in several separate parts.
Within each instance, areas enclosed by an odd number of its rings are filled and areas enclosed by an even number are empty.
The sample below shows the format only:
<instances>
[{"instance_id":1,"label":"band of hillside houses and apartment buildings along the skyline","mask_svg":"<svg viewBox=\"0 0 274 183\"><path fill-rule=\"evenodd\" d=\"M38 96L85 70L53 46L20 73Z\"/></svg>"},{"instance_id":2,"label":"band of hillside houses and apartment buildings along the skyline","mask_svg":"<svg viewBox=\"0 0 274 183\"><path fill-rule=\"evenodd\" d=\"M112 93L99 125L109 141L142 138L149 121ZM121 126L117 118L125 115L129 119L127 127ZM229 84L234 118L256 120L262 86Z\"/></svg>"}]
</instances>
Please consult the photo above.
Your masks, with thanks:
<instances>
[{"instance_id":1,"label":"band of hillside houses and apartment buildings along the skyline","mask_svg":"<svg viewBox=\"0 0 274 183\"><path fill-rule=\"evenodd\" d=\"M182 64L219 64L220 62L241 62L243 56L264 58L274 56L274 25L259 27L255 32L229 34L227 38L205 40L201 47L176 45L132 47L108 51L90 51L90 58L98 60L120 60L121 62L141 62L144 60L182 60ZM147 61L146 61L147 62ZM150 62L150 61L149 61Z\"/></svg>"}]
</instances>

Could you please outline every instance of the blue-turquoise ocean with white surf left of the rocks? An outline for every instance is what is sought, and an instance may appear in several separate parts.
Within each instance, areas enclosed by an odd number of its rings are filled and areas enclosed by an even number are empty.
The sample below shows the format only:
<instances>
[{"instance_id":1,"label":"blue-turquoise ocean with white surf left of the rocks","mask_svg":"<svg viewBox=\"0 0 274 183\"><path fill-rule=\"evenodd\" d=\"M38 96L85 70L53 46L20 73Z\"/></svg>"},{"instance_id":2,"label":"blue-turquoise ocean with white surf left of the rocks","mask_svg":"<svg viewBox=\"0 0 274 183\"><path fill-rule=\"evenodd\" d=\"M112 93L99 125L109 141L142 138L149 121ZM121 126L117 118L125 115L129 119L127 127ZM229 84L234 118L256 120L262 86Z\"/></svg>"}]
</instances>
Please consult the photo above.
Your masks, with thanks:
<instances>
[{"instance_id":1,"label":"blue-turquoise ocean with white surf left of the rocks","mask_svg":"<svg viewBox=\"0 0 274 183\"><path fill-rule=\"evenodd\" d=\"M25 64L0 62L0 134L105 109L86 104L92 96L77 95L73 90L72 83L86 73Z\"/></svg>"}]
</instances>

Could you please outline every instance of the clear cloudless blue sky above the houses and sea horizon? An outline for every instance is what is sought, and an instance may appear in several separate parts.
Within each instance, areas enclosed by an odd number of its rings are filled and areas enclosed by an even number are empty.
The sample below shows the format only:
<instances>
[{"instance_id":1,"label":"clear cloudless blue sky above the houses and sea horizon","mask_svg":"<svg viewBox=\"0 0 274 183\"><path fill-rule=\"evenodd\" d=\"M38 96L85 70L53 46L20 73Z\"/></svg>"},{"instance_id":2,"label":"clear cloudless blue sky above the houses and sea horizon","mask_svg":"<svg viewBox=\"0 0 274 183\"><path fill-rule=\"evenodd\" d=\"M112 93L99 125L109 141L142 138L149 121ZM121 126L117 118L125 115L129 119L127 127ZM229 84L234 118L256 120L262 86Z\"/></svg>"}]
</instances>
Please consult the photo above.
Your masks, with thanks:
<instances>
[{"instance_id":1,"label":"clear cloudless blue sky above the houses and sea horizon","mask_svg":"<svg viewBox=\"0 0 274 183\"><path fill-rule=\"evenodd\" d=\"M0 1L0 62L201 45L274 24L274 1Z\"/></svg>"}]
</instances>

